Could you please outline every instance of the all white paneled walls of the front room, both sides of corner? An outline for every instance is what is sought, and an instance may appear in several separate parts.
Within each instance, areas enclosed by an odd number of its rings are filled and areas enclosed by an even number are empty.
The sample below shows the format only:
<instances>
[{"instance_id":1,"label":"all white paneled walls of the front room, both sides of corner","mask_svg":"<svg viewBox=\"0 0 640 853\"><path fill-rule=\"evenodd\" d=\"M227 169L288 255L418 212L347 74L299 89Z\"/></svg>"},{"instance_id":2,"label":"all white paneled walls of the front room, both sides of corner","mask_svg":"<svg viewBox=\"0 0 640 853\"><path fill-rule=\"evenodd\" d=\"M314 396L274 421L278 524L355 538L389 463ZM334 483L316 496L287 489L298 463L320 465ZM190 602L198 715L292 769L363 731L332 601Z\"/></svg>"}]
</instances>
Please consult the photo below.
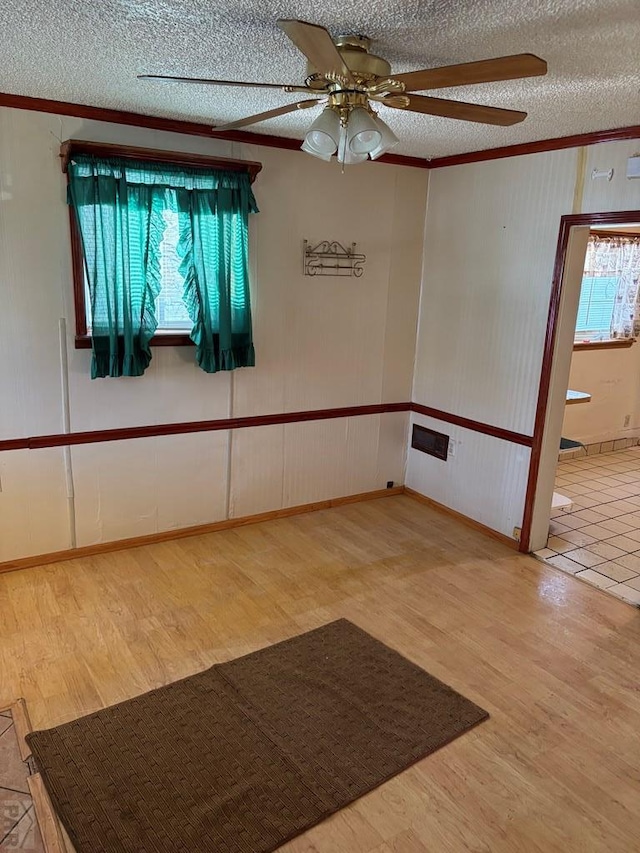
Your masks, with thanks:
<instances>
[{"instance_id":1,"label":"all white paneled walls of the front room, both sides of corner","mask_svg":"<svg viewBox=\"0 0 640 853\"><path fill-rule=\"evenodd\" d=\"M207 376L192 350L160 348L142 379L89 379L90 354L73 347L58 161L71 137L264 163L250 233L255 369ZM640 208L640 181L625 177L637 146L431 173L362 164L343 175L298 152L2 109L0 438L62 432L65 411L77 431L410 398L530 436L560 217ZM612 167L611 182L591 180L593 169ZM305 238L356 242L365 275L304 277ZM455 454L445 463L407 457L404 414L2 453L0 561L388 480L511 536L522 523L529 450L413 420L451 435Z\"/></svg>"}]
</instances>

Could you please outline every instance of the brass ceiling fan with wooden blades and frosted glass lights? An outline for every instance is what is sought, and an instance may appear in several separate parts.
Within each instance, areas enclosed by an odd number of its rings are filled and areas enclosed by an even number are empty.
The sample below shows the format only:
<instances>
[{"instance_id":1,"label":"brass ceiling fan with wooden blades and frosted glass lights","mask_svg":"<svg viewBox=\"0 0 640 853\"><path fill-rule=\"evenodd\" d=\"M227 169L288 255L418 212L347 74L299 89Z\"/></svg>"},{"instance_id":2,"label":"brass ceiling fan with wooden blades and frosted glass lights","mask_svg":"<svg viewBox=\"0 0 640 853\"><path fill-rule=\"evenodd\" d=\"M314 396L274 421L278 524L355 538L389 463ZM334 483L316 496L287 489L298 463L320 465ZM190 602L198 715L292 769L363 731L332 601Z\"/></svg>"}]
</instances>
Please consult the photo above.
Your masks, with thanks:
<instances>
[{"instance_id":1,"label":"brass ceiling fan with wooden blades and frosted glass lights","mask_svg":"<svg viewBox=\"0 0 640 853\"><path fill-rule=\"evenodd\" d=\"M517 124L527 114L413 93L472 83L516 80L547 73L547 63L543 59L531 53L519 53L461 65L392 74L391 66L385 59L369 52L371 41L366 36L346 35L332 39L329 32L317 24L286 19L278 20L277 24L307 58L304 85L245 83L162 74L138 76L142 80L249 86L313 95L312 98L218 125L213 129L217 132L234 130L324 104L324 110L305 136L302 150L323 160L330 160L333 154L337 154L339 162L349 164L361 162L367 157L375 160L399 141L372 109L372 102L406 112L506 126Z\"/></svg>"}]
</instances>

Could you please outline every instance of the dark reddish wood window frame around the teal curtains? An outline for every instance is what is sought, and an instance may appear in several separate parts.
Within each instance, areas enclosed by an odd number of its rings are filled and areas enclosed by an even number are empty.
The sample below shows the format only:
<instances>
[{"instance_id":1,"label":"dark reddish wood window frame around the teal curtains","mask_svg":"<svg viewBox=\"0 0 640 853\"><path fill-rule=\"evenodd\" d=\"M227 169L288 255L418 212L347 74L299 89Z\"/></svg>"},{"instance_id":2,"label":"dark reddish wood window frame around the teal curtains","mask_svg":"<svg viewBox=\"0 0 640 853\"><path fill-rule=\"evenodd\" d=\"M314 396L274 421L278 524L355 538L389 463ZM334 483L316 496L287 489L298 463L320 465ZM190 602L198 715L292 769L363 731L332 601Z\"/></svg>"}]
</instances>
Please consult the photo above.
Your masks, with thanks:
<instances>
[{"instance_id":1,"label":"dark reddish wood window frame around the teal curtains","mask_svg":"<svg viewBox=\"0 0 640 853\"><path fill-rule=\"evenodd\" d=\"M94 154L102 157L122 157L130 160L145 160L151 163L172 163L190 168L226 169L249 173L253 183L262 163L256 160L232 160L225 157L209 157L202 154L164 151L157 148L136 148L130 145L112 145L106 142L88 142L82 139L69 139L60 147L62 171L68 175L69 160L74 154ZM91 335L87 329L87 304L85 300L84 258L78 223L69 207L69 232L71 244L71 270L73 277L73 302L75 313L75 348L91 349ZM188 332L160 332L155 334L149 345L152 347L194 346Z\"/></svg>"}]
</instances>

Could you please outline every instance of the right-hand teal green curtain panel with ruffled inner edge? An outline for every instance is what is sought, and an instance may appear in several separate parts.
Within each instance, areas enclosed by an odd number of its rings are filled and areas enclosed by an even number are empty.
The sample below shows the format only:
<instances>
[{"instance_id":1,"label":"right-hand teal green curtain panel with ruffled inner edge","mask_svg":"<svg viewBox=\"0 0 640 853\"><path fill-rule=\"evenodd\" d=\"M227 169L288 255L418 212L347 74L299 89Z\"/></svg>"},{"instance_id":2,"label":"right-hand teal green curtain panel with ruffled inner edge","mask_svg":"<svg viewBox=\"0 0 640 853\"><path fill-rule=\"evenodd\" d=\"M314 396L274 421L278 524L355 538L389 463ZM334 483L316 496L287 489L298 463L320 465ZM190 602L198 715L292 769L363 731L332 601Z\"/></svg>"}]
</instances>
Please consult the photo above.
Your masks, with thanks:
<instances>
[{"instance_id":1,"label":"right-hand teal green curtain panel with ruffled inner edge","mask_svg":"<svg viewBox=\"0 0 640 853\"><path fill-rule=\"evenodd\" d=\"M255 365L248 275L248 175L215 190L179 190L181 272L196 360L207 373Z\"/></svg>"}]
</instances>

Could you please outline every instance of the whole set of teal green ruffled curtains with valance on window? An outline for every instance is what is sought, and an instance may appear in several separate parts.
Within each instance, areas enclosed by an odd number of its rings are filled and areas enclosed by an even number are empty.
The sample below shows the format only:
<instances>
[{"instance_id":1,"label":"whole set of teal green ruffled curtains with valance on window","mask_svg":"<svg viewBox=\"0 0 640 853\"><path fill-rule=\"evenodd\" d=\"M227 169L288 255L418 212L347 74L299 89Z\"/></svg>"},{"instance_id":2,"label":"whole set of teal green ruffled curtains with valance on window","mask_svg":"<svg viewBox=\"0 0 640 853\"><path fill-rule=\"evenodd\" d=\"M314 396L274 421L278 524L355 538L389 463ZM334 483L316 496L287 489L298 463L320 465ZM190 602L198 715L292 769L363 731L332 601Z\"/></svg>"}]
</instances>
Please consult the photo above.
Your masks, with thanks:
<instances>
[{"instance_id":1,"label":"whole set of teal green ruffled curtains with valance on window","mask_svg":"<svg viewBox=\"0 0 640 853\"><path fill-rule=\"evenodd\" d=\"M179 214L184 301L208 373L253 366L248 283L249 176L74 155L69 203L89 290L92 378L140 376L151 361L165 210Z\"/></svg>"}]
</instances>

